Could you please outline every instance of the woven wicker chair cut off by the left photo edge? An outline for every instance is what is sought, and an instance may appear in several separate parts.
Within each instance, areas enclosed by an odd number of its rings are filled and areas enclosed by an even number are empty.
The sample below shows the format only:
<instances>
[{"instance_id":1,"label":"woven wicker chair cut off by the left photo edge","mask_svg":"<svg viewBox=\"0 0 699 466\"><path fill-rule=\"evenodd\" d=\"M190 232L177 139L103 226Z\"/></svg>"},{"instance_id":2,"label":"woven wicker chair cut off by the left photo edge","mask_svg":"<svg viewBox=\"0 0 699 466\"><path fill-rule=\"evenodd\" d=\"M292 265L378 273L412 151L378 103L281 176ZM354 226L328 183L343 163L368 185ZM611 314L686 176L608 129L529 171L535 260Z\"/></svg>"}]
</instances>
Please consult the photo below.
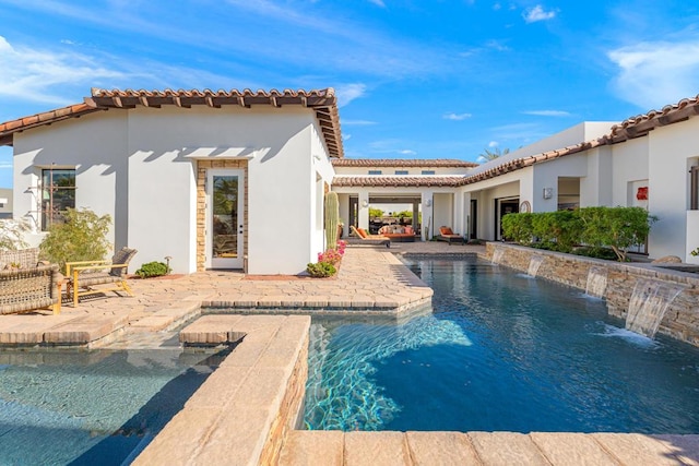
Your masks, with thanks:
<instances>
[{"instance_id":1,"label":"woven wicker chair cut off by the left photo edge","mask_svg":"<svg viewBox=\"0 0 699 466\"><path fill-rule=\"evenodd\" d=\"M61 312L63 275L57 264L38 263L39 250L0 252L0 314L50 309Z\"/></svg>"}]
</instances>

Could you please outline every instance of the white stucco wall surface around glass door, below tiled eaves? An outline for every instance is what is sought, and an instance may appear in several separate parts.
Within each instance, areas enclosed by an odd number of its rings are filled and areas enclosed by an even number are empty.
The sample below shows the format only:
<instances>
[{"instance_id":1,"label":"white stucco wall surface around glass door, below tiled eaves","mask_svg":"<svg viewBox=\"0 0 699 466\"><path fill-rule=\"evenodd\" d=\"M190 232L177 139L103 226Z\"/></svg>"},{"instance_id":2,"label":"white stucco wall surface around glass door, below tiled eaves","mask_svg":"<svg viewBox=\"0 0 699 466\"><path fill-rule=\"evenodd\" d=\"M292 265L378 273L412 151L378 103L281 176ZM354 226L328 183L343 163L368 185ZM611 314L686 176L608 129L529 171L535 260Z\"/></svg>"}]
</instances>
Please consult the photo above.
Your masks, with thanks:
<instances>
[{"instance_id":1,"label":"white stucco wall surface around glass door, below tiled eaves","mask_svg":"<svg viewBox=\"0 0 699 466\"><path fill-rule=\"evenodd\" d=\"M134 262L197 268L197 147L240 148L248 162L248 271L301 272L322 250L315 200L333 169L311 109L194 106L109 110L15 135L15 215L35 211L34 166L75 167L76 206L115 218L111 240ZM211 155L216 158L214 151ZM318 158L313 157L318 155ZM321 224L322 225L322 224ZM292 246L289 246L292 244Z\"/></svg>"}]
</instances>

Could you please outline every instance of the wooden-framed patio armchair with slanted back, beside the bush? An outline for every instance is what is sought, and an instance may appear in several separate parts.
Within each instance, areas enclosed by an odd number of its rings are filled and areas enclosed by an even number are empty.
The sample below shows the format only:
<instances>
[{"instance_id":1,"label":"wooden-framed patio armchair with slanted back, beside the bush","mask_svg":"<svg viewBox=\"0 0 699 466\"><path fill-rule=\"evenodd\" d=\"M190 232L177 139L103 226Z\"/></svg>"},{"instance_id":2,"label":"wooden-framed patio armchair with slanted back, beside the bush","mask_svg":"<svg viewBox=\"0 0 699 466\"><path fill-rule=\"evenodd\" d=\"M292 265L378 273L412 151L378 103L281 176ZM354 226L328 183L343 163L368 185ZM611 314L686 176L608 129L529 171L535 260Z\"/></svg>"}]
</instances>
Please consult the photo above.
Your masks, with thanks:
<instances>
[{"instance_id":1,"label":"wooden-framed patio armchair with slanted back, beside the bush","mask_svg":"<svg viewBox=\"0 0 699 466\"><path fill-rule=\"evenodd\" d=\"M78 300L81 296L97 292L125 291L129 296L133 296L133 291L127 283L127 270L129 261L137 252L135 249L122 248L114 254L111 261L67 262L68 284L66 290L68 296L73 296L73 306L78 307ZM96 285L111 286L93 288Z\"/></svg>"}]
</instances>

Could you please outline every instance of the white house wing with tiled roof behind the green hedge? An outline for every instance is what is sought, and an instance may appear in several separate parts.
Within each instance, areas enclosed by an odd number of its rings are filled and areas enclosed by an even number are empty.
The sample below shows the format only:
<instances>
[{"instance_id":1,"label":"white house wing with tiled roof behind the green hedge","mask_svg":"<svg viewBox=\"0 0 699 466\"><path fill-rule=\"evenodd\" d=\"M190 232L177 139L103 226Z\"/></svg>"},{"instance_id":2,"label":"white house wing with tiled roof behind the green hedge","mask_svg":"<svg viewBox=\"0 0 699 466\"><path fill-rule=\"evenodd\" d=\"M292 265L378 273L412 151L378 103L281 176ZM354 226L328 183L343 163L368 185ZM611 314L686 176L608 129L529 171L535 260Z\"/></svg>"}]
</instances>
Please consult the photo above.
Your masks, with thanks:
<instances>
[{"instance_id":1,"label":"white house wing with tiled roof behind the green hedge","mask_svg":"<svg viewBox=\"0 0 699 466\"><path fill-rule=\"evenodd\" d=\"M366 227L391 200L423 214L423 239L449 225L500 240L511 212L641 206L659 217L639 252L699 263L699 96L621 123L583 122L481 166L460 160L334 159L341 216ZM415 218L415 216L414 216Z\"/></svg>"}]
</instances>

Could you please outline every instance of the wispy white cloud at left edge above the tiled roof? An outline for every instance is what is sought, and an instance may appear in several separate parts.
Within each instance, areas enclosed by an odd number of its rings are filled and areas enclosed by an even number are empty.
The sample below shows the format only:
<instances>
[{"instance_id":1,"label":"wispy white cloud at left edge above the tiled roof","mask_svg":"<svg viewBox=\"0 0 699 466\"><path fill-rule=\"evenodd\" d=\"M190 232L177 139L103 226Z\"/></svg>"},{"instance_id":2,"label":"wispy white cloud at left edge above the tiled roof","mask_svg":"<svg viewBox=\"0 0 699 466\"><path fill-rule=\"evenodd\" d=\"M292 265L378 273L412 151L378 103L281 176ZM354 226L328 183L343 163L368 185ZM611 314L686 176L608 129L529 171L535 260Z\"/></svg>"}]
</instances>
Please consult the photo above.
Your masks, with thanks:
<instances>
[{"instance_id":1,"label":"wispy white cloud at left edge above the tiled roof","mask_svg":"<svg viewBox=\"0 0 699 466\"><path fill-rule=\"evenodd\" d=\"M61 85L84 85L100 79L121 79L123 73L109 70L92 57L80 53L13 47L0 36L0 96L26 100L66 104L66 97L52 88Z\"/></svg>"}]
</instances>

